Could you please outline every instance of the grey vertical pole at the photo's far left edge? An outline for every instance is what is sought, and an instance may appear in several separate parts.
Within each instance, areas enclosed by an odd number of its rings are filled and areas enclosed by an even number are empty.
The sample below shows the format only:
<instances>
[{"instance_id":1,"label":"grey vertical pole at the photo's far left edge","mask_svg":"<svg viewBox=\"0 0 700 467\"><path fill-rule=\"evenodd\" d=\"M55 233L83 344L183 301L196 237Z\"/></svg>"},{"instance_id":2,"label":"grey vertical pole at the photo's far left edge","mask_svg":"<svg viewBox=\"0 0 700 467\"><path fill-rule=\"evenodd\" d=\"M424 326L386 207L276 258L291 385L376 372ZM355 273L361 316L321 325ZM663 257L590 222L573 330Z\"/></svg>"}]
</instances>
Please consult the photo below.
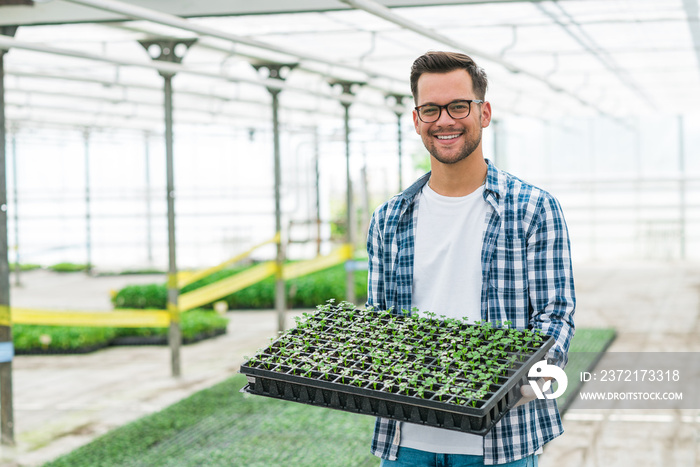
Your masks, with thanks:
<instances>
[{"instance_id":1,"label":"grey vertical pole at the photo's far left edge","mask_svg":"<svg viewBox=\"0 0 700 467\"><path fill-rule=\"evenodd\" d=\"M12 29L9 31L8 29ZM0 32L13 36L16 27ZM9 33L9 34L8 34ZM7 258L7 186L5 179L5 51L0 50L0 443L14 446L12 402L12 322L10 312L10 265Z\"/></svg>"}]
</instances>

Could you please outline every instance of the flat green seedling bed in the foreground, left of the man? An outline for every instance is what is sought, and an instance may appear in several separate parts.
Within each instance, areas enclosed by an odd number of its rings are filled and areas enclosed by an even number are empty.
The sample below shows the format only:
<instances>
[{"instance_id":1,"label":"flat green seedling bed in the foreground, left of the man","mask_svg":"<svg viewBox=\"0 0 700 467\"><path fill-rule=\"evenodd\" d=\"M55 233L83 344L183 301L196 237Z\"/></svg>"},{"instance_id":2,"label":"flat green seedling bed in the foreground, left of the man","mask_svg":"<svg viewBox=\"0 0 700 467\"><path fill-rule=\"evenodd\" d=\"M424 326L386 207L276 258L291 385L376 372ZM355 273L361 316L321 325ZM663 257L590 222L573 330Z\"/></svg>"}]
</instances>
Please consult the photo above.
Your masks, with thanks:
<instances>
[{"instance_id":1,"label":"flat green seedling bed in the foreground, left of the man","mask_svg":"<svg viewBox=\"0 0 700 467\"><path fill-rule=\"evenodd\" d=\"M374 420L240 392L237 375L44 467L378 466Z\"/></svg>"}]
</instances>

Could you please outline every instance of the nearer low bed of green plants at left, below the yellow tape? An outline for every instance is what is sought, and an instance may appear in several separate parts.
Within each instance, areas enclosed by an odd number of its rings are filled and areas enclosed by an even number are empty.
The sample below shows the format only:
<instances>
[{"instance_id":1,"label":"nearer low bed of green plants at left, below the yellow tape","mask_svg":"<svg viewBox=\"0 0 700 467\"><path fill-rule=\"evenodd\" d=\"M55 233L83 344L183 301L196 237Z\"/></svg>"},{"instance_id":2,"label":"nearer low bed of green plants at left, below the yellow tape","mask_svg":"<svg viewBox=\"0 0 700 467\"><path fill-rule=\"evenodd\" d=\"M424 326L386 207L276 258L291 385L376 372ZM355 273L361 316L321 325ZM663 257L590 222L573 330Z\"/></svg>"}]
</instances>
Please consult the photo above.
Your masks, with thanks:
<instances>
[{"instance_id":1,"label":"nearer low bed of green plants at left, below the yellow tape","mask_svg":"<svg viewBox=\"0 0 700 467\"><path fill-rule=\"evenodd\" d=\"M228 319L211 310L183 313L181 321L183 343L189 344L226 332ZM12 338L18 355L87 353L109 345L119 345L119 339L136 337L143 344L146 338L166 339L167 328L110 328L82 326L35 326L15 324ZM132 343L131 345L134 345Z\"/></svg>"}]
</instances>

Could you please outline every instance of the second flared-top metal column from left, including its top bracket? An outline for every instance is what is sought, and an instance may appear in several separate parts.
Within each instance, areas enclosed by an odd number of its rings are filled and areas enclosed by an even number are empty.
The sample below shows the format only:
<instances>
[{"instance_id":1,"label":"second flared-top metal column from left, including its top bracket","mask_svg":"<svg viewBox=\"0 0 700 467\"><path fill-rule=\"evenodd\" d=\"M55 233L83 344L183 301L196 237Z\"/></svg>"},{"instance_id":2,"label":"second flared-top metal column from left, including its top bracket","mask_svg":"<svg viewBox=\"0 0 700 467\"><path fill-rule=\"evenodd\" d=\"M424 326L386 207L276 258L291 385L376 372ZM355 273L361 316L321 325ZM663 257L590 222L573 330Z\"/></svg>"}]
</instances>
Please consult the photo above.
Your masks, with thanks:
<instances>
[{"instance_id":1,"label":"second flared-top metal column from left, including its top bracket","mask_svg":"<svg viewBox=\"0 0 700 467\"><path fill-rule=\"evenodd\" d=\"M282 64L273 62L259 62L253 64L256 70L267 73L265 78L283 81L294 64ZM285 329L285 314L287 309L287 290L282 276L285 261L284 243L282 242L282 162L280 157L280 129L279 129L279 93L280 89L267 87L272 96L272 137L275 162L275 232L277 234L277 254L275 255L275 311L277 312L277 330Z\"/></svg>"}]
</instances>

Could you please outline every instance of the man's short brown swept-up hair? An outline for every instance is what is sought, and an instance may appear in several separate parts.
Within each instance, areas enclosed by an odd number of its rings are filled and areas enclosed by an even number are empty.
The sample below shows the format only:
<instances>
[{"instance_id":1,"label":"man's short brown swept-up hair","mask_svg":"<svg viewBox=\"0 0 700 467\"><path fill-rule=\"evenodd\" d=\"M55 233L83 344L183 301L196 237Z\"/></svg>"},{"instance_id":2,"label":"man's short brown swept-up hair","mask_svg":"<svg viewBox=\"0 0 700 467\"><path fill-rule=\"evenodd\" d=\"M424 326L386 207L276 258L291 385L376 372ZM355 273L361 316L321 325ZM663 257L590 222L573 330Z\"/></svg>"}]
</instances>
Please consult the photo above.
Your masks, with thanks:
<instances>
[{"instance_id":1,"label":"man's short brown swept-up hair","mask_svg":"<svg viewBox=\"0 0 700 467\"><path fill-rule=\"evenodd\" d=\"M423 73L449 73L454 70L466 70L469 73L477 99L483 99L486 96L488 86L486 72L470 56L458 52L427 52L418 57L411 67L411 94L416 104L418 104L418 78Z\"/></svg>"}]
</instances>

